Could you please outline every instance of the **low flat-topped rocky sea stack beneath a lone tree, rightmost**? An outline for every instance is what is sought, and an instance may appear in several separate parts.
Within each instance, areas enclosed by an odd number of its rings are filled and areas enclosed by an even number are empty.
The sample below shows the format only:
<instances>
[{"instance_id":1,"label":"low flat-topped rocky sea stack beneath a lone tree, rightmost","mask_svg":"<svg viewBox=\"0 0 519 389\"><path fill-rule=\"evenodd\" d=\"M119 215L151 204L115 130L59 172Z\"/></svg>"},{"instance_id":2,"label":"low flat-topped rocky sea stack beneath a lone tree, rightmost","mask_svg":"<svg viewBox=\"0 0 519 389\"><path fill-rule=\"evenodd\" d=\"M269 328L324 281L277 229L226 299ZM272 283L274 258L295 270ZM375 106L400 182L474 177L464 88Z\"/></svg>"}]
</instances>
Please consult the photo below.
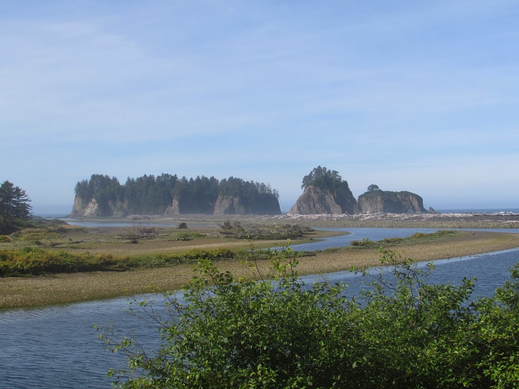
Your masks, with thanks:
<instances>
[{"instance_id":1,"label":"low flat-topped rocky sea stack beneath a lone tree, rightmost","mask_svg":"<svg viewBox=\"0 0 519 389\"><path fill-rule=\"evenodd\" d=\"M379 212L391 213L426 213L424 200L416 193L387 190L371 190L359 196L359 210L372 214Z\"/></svg>"}]
</instances>

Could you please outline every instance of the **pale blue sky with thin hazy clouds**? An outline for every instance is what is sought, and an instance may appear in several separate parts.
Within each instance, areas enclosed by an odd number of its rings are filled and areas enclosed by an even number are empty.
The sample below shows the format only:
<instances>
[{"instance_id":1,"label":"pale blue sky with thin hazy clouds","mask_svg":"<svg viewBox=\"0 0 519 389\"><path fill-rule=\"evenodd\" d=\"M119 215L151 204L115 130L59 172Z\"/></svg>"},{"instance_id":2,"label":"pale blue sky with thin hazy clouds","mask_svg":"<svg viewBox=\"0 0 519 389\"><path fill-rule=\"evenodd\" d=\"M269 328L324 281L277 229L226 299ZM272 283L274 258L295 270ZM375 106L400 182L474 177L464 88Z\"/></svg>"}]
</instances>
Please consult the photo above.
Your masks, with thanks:
<instances>
[{"instance_id":1,"label":"pale blue sky with thin hazy clouds","mask_svg":"<svg viewBox=\"0 0 519 389\"><path fill-rule=\"evenodd\" d=\"M0 181L270 183L318 165L435 209L519 207L519 1L0 0Z\"/></svg>"}]
</instances>

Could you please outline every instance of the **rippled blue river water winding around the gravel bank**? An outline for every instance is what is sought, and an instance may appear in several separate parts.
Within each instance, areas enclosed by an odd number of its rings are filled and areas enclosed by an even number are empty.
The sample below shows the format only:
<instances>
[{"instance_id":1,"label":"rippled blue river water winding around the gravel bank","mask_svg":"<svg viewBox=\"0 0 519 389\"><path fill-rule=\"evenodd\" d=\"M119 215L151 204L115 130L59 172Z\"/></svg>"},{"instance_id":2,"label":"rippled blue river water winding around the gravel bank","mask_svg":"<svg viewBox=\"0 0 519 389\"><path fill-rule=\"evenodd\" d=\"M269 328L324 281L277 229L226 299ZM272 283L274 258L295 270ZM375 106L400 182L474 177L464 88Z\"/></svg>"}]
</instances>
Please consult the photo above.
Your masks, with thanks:
<instances>
[{"instance_id":1,"label":"rippled blue river water winding around the gravel bank","mask_svg":"<svg viewBox=\"0 0 519 389\"><path fill-rule=\"evenodd\" d=\"M330 238L330 245L338 244L336 240L339 238L379 240L405 237L417 231L434 231L353 228L345 230L351 231L352 234ZM318 249L317 245L321 243L312 243L309 248L297 246L297 249ZM346 245L343 243L340 245ZM439 260L435 261L436 270L431 282L459 284L463 277L476 276L478 281L474 296L490 296L496 287L507 280L507 269L518 261L518 249ZM344 281L348 284L348 296L357 296L359 291L365 288L364 279L350 272L336 272L325 276L332 282ZM309 275L303 277L303 280L311 284L322 277ZM139 296L141 299L149 297L154 297L158 302L161 300L159 295ZM110 387L111 382L105 378L105 372L110 367L124 367L125 359L122 354L106 351L105 346L97 339L97 331L92 328L93 324L108 323L114 323L118 334L130 335L131 329L134 328L136 337L148 346L158 344L157 325L130 315L127 298L54 305L41 309L1 311L0 388Z\"/></svg>"}]
</instances>

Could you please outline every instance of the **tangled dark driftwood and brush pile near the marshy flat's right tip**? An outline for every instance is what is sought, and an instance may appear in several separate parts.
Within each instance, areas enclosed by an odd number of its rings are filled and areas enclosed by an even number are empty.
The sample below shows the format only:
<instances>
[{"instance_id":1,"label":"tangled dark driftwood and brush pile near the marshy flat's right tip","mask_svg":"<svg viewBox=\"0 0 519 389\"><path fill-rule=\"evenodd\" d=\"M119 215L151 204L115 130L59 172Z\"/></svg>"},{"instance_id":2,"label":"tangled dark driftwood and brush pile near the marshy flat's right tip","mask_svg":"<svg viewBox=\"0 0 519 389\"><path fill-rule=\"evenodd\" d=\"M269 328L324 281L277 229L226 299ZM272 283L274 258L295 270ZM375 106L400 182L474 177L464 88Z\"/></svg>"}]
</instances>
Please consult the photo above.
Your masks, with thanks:
<instances>
[{"instance_id":1,"label":"tangled dark driftwood and brush pile near the marshy flat's right tip","mask_svg":"<svg viewBox=\"0 0 519 389\"><path fill-rule=\"evenodd\" d=\"M285 240L302 238L305 233L313 231L309 227L298 226L297 224L285 224L282 226L253 224L250 227L242 227L239 221L234 223L230 219L223 223L216 223L220 228L218 237L235 239L268 239Z\"/></svg>"}]
</instances>

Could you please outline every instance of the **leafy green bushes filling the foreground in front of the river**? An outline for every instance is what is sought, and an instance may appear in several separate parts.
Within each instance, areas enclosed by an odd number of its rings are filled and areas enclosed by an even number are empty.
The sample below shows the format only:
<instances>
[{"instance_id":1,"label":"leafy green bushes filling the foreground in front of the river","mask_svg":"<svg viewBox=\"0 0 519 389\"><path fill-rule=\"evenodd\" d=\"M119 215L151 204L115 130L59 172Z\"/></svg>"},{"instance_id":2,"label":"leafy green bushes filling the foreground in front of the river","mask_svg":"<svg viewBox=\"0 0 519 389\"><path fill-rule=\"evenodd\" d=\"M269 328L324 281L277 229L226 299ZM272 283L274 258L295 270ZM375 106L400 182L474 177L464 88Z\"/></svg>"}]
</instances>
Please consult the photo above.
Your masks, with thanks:
<instances>
[{"instance_id":1,"label":"leafy green bushes filling the foreground in front of the river","mask_svg":"<svg viewBox=\"0 0 519 389\"><path fill-rule=\"evenodd\" d=\"M159 323L160 350L102 333L128 357L110 376L124 388L517 387L519 265L493 297L473 299L471 280L429 285L433 266L382 254L394 278L375 275L362 302L346 285L305 286L291 249L270 252L252 281L200 260L184 302L167 294L158 316L135 301Z\"/></svg>"}]
</instances>

